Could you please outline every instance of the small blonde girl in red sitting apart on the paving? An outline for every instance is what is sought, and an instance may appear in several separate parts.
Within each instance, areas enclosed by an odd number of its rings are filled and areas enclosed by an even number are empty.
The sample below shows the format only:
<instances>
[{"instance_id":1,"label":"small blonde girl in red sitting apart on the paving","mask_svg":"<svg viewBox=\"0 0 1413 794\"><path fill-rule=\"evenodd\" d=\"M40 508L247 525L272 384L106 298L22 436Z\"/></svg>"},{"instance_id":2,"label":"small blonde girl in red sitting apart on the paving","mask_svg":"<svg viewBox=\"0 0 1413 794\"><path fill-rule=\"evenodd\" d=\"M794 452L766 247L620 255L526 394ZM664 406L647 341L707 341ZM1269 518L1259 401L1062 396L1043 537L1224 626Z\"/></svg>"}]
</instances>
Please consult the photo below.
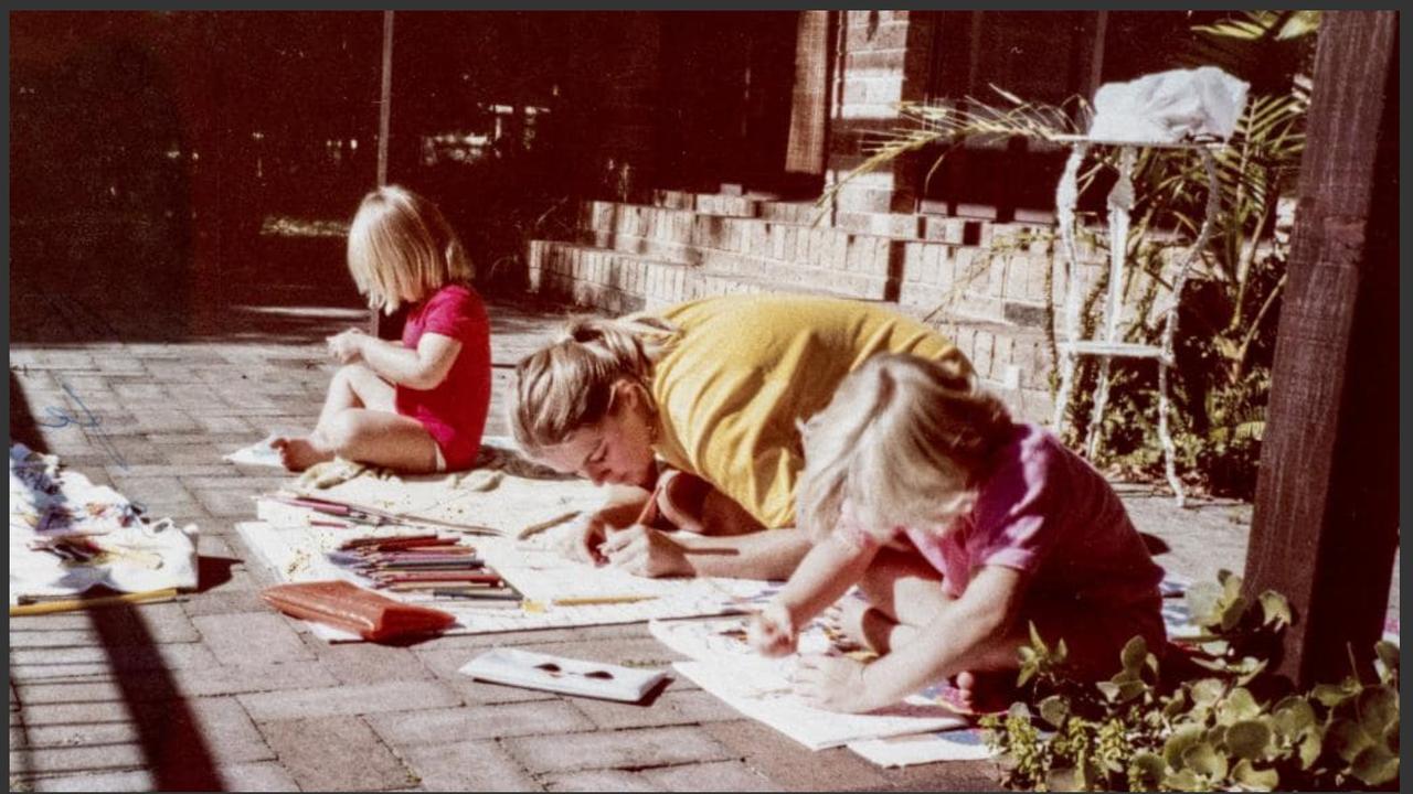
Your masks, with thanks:
<instances>
[{"instance_id":1,"label":"small blonde girl in red sitting apart on the paving","mask_svg":"<svg viewBox=\"0 0 1413 794\"><path fill-rule=\"evenodd\" d=\"M335 455L408 473L468 469L490 408L490 325L473 270L437 205L396 186L363 198L349 273L373 311L411 305L400 342L350 328L331 336L343 367L314 431L274 439L285 468Z\"/></svg>"}]
</instances>

